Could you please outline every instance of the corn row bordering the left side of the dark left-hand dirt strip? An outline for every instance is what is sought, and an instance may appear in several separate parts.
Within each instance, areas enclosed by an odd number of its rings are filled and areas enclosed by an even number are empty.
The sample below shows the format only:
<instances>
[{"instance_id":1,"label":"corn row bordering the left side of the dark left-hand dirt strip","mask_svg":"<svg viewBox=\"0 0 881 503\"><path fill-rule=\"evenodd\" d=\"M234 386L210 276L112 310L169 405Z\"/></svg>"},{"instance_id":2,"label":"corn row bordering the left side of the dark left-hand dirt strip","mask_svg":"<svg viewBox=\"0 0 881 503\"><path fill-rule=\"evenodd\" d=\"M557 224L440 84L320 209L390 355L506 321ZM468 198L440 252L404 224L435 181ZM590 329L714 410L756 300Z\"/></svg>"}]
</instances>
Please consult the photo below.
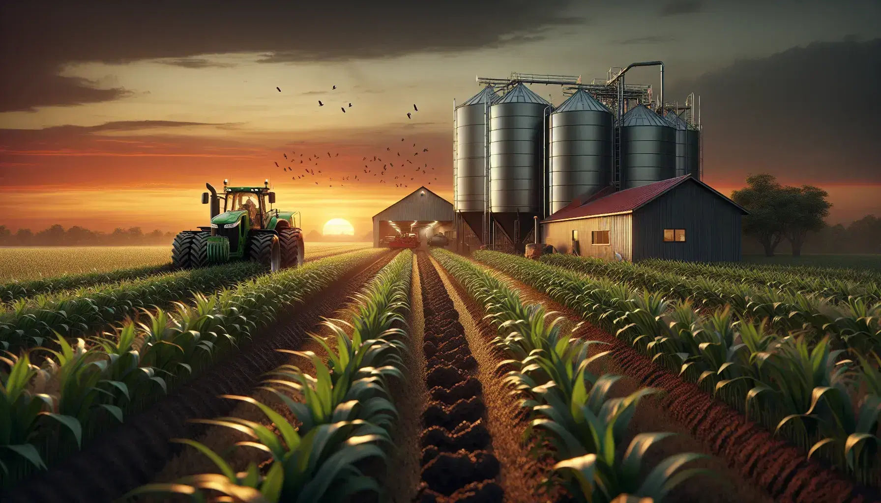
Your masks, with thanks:
<instances>
[{"instance_id":1,"label":"corn row bordering the left side of the dark left-hand dirt strip","mask_svg":"<svg viewBox=\"0 0 881 503\"><path fill-rule=\"evenodd\" d=\"M154 403L168 388L204 372L220 354L235 351L255 329L273 322L282 307L315 295L377 253L381 250L337 255L211 296L196 295L191 304L176 304L174 312L156 309L147 313L149 322L129 321L114 333L93 337L90 347L81 338L70 344L56 337L58 349L32 349L48 354L41 381L55 382L57 389L44 402L45 415L55 420L32 423L28 443L45 462L69 454L81 441ZM26 386L34 388L33 375L29 381ZM11 482L44 468L22 459L16 462Z\"/></svg>"}]
</instances>

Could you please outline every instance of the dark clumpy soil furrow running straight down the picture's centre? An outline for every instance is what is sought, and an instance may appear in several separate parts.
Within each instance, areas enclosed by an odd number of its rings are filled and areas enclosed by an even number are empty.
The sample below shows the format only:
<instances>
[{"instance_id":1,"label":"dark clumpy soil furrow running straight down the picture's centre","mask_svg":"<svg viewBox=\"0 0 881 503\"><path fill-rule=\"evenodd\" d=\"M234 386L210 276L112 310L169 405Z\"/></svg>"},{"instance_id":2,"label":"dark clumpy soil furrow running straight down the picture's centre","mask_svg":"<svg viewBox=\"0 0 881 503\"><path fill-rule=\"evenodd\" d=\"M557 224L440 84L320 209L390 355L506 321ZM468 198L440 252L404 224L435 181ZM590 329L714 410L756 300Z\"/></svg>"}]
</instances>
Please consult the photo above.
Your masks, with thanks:
<instances>
[{"instance_id":1,"label":"dark clumpy soil furrow running straight down the picture's centre","mask_svg":"<svg viewBox=\"0 0 881 503\"><path fill-rule=\"evenodd\" d=\"M422 412L420 503L500 502L499 460L492 454L486 405L459 315L428 255L418 252L425 316L426 388Z\"/></svg>"}]
</instances>

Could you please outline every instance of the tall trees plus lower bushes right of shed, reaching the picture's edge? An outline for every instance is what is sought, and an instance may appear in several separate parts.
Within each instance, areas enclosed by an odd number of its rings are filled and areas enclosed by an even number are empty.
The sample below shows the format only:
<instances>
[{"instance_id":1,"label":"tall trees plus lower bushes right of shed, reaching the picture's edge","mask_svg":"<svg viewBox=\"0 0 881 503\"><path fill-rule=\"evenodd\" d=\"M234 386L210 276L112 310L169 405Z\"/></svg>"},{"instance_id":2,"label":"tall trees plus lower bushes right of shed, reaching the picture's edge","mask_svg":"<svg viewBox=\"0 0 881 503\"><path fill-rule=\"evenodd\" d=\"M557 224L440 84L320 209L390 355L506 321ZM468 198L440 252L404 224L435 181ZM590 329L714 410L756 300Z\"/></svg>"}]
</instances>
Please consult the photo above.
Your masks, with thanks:
<instances>
[{"instance_id":1,"label":"tall trees plus lower bushes right of shed, reaching the picture's edge","mask_svg":"<svg viewBox=\"0 0 881 503\"><path fill-rule=\"evenodd\" d=\"M772 256L782 244L792 255L881 254L881 218L866 215L848 226L828 226L832 204L825 190L812 185L781 185L773 175L754 174L731 198L750 215L744 216L744 253L759 250ZM784 248L784 249L785 249Z\"/></svg>"}]
</instances>

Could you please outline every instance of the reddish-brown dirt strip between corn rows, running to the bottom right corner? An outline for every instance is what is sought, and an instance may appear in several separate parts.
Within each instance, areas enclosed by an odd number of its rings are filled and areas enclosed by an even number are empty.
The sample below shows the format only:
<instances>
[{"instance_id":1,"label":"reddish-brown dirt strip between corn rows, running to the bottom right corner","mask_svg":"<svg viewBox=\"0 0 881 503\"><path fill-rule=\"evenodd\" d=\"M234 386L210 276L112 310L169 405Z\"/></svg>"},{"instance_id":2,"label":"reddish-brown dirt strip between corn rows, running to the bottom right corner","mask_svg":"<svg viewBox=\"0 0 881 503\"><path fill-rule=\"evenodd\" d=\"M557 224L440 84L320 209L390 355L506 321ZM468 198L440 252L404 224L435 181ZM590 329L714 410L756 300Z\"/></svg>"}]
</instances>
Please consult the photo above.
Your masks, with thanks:
<instances>
[{"instance_id":1,"label":"reddish-brown dirt strip between corn rows, running to the bottom right corner","mask_svg":"<svg viewBox=\"0 0 881 503\"><path fill-rule=\"evenodd\" d=\"M475 263L492 270L483 263ZM570 322L581 322L578 314L555 302L544 292L538 292L498 270L493 271L520 291L523 300L540 302L548 310L559 311ZM613 364L603 363L604 370L630 377L640 386L662 389L663 398L657 401L661 406L659 412L675 423L667 423L668 425L690 434L693 439L700 442L701 450L725 460L731 475L743 477L744 481L756 485L774 500L787 503L881 501L881 497L874 490L857 485L820 462L808 460L792 444L775 438L762 425L748 420L743 414L715 400L691 382L683 381L678 376L656 366L647 357L603 329L585 322L576 333L576 337L609 344L597 350L612 351L606 359L611 357ZM658 429L663 429L660 428L664 423L662 415L658 415L657 418L661 419L661 425L656 424L650 416L646 420L655 423ZM634 418L634 422L639 422L638 418ZM667 431L676 433L669 428ZM732 491L744 490L742 484L737 484L736 480L732 482L735 483ZM692 481L686 482L685 485L692 485ZM737 492L720 495L720 499L712 500L756 500L746 498L748 492L740 496L740 499L730 499L731 496L737 496ZM699 492L696 496L706 501L708 493Z\"/></svg>"}]
</instances>

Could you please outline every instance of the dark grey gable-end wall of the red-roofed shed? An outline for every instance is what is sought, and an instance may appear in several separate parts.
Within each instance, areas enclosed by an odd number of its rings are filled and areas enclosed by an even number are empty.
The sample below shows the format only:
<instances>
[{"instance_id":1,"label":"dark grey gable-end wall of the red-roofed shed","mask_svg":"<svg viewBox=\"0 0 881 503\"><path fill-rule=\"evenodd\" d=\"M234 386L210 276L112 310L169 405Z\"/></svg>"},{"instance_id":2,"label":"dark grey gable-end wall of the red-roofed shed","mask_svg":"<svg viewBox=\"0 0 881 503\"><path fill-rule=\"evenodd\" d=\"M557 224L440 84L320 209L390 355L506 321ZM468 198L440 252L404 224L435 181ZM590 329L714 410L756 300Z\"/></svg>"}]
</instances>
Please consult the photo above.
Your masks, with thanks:
<instances>
[{"instance_id":1,"label":"dark grey gable-end wall of the red-roofed shed","mask_svg":"<svg viewBox=\"0 0 881 503\"><path fill-rule=\"evenodd\" d=\"M734 204L696 182L685 181L633 211L633 260L737 262L741 216ZM664 242L664 229L685 229L685 242Z\"/></svg>"}]
</instances>

